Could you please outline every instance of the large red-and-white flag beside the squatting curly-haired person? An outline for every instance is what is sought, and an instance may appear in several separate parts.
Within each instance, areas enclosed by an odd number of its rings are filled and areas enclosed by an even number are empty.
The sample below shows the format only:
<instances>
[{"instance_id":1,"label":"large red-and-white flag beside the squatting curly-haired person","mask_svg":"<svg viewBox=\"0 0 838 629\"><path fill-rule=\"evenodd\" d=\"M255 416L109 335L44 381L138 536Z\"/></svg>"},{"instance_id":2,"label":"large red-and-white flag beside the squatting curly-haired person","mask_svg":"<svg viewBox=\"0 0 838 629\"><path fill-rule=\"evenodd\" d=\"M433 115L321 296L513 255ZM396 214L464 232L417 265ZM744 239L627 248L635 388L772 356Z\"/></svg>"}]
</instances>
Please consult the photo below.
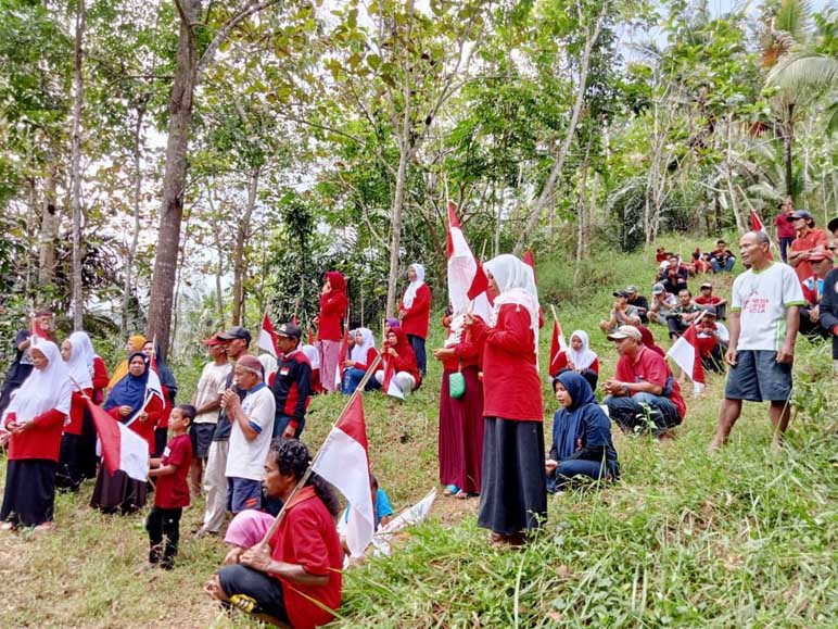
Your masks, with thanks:
<instances>
[{"instance_id":1,"label":"large red-and-white flag beside the squatting curly-haired person","mask_svg":"<svg viewBox=\"0 0 838 629\"><path fill-rule=\"evenodd\" d=\"M376 512L370 487L367 423L360 395L353 395L346 411L320 446L312 471L331 482L350 503L346 544L360 557L376 532Z\"/></svg>"}]
</instances>

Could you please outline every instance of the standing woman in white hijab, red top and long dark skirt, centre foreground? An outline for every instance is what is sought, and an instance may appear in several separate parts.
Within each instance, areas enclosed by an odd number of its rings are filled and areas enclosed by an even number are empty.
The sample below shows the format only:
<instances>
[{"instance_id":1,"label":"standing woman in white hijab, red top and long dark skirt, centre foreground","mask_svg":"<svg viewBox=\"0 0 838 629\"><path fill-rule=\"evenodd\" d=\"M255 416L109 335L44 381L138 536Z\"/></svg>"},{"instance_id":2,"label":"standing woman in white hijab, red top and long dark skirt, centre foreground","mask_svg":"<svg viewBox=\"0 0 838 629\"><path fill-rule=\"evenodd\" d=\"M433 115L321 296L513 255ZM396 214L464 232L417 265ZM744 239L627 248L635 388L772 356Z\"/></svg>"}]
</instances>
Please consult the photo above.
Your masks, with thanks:
<instances>
[{"instance_id":1,"label":"standing woman in white hijab, red top and long dark skirt, centre foreground","mask_svg":"<svg viewBox=\"0 0 838 629\"><path fill-rule=\"evenodd\" d=\"M538 292L532 268L498 255L484 268L492 320L467 315L483 344L483 469L478 525L492 544L519 545L547 517L544 406L538 378Z\"/></svg>"}]
</instances>

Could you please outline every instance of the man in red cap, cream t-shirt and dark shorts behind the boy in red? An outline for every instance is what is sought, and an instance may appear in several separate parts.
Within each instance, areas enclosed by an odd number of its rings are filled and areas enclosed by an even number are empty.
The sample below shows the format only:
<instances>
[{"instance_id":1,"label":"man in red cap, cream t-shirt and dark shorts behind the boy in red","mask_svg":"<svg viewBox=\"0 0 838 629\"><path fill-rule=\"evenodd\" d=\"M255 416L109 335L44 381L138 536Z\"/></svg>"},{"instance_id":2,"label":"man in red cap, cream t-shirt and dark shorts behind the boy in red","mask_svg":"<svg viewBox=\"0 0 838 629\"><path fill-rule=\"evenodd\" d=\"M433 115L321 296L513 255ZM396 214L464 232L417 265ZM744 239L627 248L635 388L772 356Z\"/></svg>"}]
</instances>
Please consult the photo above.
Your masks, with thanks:
<instances>
[{"instance_id":1,"label":"man in red cap, cream t-shirt and dark shorts behind the boy in red","mask_svg":"<svg viewBox=\"0 0 838 629\"><path fill-rule=\"evenodd\" d=\"M189 438L192 441L192 466L189 469L192 482L192 493L201 495L201 482L206 457L210 455L210 444L213 442L215 425L218 423L218 411L221 407L221 393L225 390L227 374L232 364L227 360L227 341L213 335L204 339L206 351L212 362L204 365L201 378L198 380L192 395L192 405L198 415L189 425Z\"/></svg>"}]
</instances>

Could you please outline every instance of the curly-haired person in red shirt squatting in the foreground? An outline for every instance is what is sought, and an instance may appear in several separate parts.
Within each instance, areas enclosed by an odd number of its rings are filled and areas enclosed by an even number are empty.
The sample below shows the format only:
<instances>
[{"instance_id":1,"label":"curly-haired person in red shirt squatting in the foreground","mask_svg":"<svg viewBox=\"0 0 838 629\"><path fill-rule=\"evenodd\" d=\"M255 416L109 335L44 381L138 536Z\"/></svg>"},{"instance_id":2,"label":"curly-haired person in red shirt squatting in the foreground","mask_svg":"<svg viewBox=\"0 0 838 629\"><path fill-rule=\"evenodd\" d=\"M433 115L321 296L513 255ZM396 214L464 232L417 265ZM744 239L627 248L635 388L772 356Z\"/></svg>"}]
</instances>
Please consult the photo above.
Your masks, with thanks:
<instances>
[{"instance_id":1,"label":"curly-haired person in red shirt squatting in the foreground","mask_svg":"<svg viewBox=\"0 0 838 629\"><path fill-rule=\"evenodd\" d=\"M340 503L329 485L313 474L294 493L310 457L295 439L277 441L265 462L265 492L285 502L282 520L268 545L228 556L205 586L225 606L285 622L297 629L326 625L341 605L343 550L334 518ZM240 517L240 516L238 516Z\"/></svg>"}]
</instances>

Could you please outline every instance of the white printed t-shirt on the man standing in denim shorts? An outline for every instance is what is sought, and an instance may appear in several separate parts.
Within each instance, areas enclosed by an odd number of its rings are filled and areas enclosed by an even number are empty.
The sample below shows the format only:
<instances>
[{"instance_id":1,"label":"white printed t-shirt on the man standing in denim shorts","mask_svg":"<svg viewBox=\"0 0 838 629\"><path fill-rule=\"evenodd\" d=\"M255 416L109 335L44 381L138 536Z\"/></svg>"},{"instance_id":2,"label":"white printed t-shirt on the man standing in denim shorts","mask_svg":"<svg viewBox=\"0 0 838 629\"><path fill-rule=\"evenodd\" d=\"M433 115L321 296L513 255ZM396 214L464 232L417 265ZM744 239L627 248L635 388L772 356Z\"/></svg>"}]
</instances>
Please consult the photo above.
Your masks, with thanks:
<instances>
[{"instance_id":1,"label":"white printed t-shirt on the man standing in denim shorts","mask_svg":"<svg viewBox=\"0 0 838 629\"><path fill-rule=\"evenodd\" d=\"M731 310L740 312L737 350L776 352L786 339L786 309L805 305L803 289L790 266L772 262L761 272L736 278Z\"/></svg>"}]
</instances>

